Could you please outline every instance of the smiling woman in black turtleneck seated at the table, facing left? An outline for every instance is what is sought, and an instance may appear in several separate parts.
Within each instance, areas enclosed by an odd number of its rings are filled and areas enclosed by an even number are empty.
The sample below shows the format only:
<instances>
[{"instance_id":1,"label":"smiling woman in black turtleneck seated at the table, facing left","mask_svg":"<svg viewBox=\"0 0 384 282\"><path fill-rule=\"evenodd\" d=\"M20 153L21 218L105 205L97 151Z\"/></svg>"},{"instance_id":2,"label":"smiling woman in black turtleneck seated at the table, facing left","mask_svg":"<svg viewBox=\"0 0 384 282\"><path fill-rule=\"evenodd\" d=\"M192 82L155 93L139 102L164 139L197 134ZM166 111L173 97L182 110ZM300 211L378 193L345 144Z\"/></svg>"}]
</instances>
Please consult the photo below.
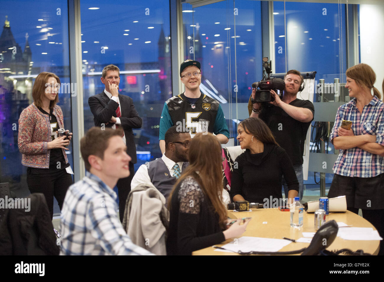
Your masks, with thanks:
<instances>
[{"instance_id":1,"label":"smiling woman in black turtleneck seated at the table, facing left","mask_svg":"<svg viewBox=\"0 0 384 282\"><path fill-rule=\"evenodd\" d=\"M237 133L241 148L246 150L234 162L233 201L264 203L265 208L272 208L271 197L278 203L283 198L281 180L284 176L288 198L294 203L299 191L295 170L288 153L276 143L268 126L257 117L250 117L240 122Z\"/></svg>"}]
</instances>

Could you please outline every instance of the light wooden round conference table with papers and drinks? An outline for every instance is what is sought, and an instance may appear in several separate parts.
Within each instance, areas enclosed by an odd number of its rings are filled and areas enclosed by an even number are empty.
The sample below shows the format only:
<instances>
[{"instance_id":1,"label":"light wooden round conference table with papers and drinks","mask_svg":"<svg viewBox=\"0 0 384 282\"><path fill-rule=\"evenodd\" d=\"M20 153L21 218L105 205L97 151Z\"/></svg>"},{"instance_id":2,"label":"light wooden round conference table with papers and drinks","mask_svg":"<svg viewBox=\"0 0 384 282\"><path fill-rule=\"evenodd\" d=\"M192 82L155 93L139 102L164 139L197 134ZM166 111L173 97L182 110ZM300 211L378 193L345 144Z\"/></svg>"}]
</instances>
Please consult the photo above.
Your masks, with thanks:
<instances>
[{"instance_id":1,"label":"light wooden round conference table with papers and drinks","mask_svg":"<svg viewBox=\"0 0 384 282\"><path fill-rule=\"evenodd\" d=\"M301 234L302 232L316 232L316 229L314 229L314 213L304 213L304 224L300 229L291 228L290 212L280 211L278 208L252 209L250 212L227 211L227 213L228 217L233 219L252 217L250 223L247 226L247 230L243 233L242 236L273 239L282 239L281 237L287 237L297 240L303 237L303 234ZM353 225L353 227L371 227L376 230L376 228L374 228L374 226L366 219L350 211L346 211L345 213L329 213L329 215L326 216L326 221L330 221L332 219L334 219L336 222L343 222L347 225ZM231 241L233 241L233 239L228 239L227 241L223 242L223 244L216 244L215 246L222 247ZM347 248L351 249L352 251L357 251L358 249L362 249L364 252L377 255L379 252L379 243L379 240L344 240L340 237L336 237L336 239L327 248L327 250L334 251ZM308 246L308 243L292 242L279 251L295 251ZM207 247L205 249L194 251L192 255L228 256L238 254L234 252L217 252L215 251L214 247Z\"/></svg>"}]
</instances>

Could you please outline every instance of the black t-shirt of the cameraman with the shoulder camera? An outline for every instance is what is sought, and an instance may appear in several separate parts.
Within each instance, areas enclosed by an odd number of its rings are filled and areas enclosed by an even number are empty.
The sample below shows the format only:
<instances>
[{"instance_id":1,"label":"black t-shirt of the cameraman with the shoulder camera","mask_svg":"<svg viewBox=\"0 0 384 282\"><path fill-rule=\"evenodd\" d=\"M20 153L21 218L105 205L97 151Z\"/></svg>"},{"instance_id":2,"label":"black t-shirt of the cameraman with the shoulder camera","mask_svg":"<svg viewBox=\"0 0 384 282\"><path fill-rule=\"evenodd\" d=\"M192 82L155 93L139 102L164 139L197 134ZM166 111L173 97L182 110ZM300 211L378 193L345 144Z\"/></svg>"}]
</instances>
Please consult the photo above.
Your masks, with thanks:
<instances>
[{"instance_id":1,"label":"black t-shirt of the cameraman with the shoulder camera","mask_svg":"<svg viewBox=\"0 0 384 282\"><path fill-rule=\"evenodd\" d=\"M314 106L309 100L296 99L289 104L310 109L314 115ZM286 150L292 164L302 165L305 137L311 122L300 122L274 105L264 106L259 117L268 125L276 142Z\"/></svg>"}]
</instances>

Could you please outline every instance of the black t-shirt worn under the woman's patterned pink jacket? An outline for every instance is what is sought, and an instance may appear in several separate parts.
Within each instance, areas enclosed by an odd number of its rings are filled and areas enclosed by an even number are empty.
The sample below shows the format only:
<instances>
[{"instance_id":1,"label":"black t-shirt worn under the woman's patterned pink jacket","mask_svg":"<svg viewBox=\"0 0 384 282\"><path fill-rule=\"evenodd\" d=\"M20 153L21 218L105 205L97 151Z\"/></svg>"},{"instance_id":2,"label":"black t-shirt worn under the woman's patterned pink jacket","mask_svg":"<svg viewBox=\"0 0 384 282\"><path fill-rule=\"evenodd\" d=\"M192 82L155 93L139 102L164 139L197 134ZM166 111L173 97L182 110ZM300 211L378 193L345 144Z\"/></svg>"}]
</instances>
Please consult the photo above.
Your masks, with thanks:
<instances>
[{"instance_id":1,"label":"black t-shirt worn under the woman's patterned pink jacket","mask_svg":"<svg viewBox=\"0 0 384 282\"><path fill-rule=\"evenodd\" d=\"M56 116L52 114L53 109L51 109L50 114L48 114L41 107L38 107L40 112L43 114L50 116L50 125L51 125L51 140L58 138L59 125L56 119ZM50 160L49 160L49 168L28 168L31 174L41 174L41 173L52 173L58 172L59 170L63 170L69 166L69 163L65 163L65 158L63 156L63 150L60 148L50 149Z\"/></svg>"}]
</instances>

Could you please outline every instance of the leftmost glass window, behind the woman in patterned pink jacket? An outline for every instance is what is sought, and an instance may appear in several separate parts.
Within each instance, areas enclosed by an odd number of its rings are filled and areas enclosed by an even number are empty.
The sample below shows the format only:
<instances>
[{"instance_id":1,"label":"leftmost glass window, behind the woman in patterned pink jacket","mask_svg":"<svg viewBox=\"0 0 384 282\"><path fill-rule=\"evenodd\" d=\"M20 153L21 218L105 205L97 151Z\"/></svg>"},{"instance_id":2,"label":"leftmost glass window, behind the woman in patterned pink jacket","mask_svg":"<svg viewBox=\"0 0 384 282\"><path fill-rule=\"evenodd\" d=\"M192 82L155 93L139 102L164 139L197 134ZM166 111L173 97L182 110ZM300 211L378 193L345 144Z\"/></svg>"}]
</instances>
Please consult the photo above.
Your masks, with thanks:
<instances>
[{"instance_id":1,"label":"leftmost glass window, behind the woman in patterned pink jacket","mask_svg":"<svg viewBox=\"0 0 384 282\"><path fill-rule=\"evenodd\" d=\"M15 7L17 6L17 8ZM18 150L18 119L32 102L36 76L48 71L70 82L67 1L2 0L0 20L0 182L8 182L13 197L29 194L26 167ZM72 131L71 93L59 91L65 128ZM72 144L68 159L71 157ZM54 212L59 212L57 204Z\"/></svg>"}]
</instances>

